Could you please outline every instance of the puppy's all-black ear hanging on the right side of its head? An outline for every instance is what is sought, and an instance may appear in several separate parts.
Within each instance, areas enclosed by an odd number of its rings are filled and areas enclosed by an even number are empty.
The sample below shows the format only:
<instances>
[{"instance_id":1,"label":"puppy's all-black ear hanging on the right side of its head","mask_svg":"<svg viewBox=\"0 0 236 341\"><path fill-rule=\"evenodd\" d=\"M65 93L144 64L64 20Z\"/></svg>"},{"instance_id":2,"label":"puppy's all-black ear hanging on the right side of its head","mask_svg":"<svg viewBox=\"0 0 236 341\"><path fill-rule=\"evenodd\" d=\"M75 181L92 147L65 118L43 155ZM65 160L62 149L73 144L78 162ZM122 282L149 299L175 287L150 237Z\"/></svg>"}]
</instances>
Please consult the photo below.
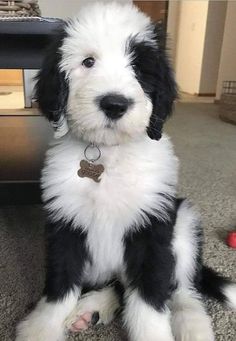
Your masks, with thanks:
<instances>
[{"instance_id":1,"label":"puppy's all-black ear hanging on the right side of its head","mask_svg":"<svg viewBox=\"0 0 236 341\"><path fill-rule=\"evenodd\" d=\"M155 25L154 34L157 42L153 74L155 82L151 95L153 112L147 129L150 138L159 140L162 135L163 124L171 114L174 100L178 97L177 85L173 70L166 53L166 34L163 26Z\"/></svg>"}]
</instances>

